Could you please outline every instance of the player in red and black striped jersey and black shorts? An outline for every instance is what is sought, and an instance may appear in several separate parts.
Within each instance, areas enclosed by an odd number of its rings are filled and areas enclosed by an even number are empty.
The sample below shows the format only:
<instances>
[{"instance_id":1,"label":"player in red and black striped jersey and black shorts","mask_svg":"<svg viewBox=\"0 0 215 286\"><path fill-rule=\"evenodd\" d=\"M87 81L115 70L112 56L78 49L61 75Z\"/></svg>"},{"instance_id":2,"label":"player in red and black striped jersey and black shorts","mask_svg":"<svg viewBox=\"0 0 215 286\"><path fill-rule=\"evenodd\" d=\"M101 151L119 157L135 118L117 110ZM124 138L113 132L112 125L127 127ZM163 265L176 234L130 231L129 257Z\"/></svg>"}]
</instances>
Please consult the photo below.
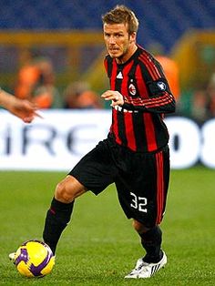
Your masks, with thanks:
<instances>
[{"instance_id":1,"label":"player in red and black striped jersey and black shorts","mask_svg":"<svg viewBox=\"0 0 215 286\"><path fill-rule=\"evenodd\" d=\"M136 15L117 5L102 21L110 89L101 97L110 101L112 125L107 138L57 184L43 238L55 253L75 199L87 190L98 195L114 182L145 250L125 278L148 278L167 263L159 228L169 188L169 132L163 117L175 111L175 99L159 62L136 43Z\"/></svg>"}]
</instances>

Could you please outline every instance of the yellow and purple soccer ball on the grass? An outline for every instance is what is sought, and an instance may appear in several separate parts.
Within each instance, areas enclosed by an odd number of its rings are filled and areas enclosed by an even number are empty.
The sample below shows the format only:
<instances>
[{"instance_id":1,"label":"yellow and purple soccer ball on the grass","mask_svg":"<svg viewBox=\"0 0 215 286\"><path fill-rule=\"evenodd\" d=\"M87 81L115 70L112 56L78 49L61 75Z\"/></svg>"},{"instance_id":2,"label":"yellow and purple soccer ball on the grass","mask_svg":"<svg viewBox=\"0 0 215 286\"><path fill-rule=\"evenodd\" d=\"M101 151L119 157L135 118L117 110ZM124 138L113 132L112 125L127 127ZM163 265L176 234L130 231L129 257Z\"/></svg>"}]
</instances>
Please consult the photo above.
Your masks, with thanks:
<instances>
[{"instance_id":1,"label":"yellow and purple soccer ball on the grass","mask_svg":"<svg viewBox=\"0 0 215 286\"><path fill-rule=\"evenodd\" d=\"M45 242L27 240L15 252L17 271L26 277L43 277L54 265L55 256Z\"/></svg>"}]
</instances>

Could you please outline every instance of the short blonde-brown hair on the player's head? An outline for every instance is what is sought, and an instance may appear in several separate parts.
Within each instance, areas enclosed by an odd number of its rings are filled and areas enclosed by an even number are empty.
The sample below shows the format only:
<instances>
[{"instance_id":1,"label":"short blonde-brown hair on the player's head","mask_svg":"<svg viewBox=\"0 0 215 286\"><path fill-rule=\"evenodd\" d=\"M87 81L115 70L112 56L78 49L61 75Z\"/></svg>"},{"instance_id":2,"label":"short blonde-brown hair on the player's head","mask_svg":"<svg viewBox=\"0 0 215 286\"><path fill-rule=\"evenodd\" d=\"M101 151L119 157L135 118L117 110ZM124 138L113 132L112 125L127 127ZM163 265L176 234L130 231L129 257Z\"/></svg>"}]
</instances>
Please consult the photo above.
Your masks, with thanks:
<instances>
[{"instance_id":1,"label":"short blonde-brown hair on the player's head","mask_svg":"<svg viewBox=\"0 0 215 286\"><path fill-rule=\"evenodd\" d=\"M125 5L117 5L115 8L102 15L103 24L128 24L128 34L138 32L138 18Z\"/></svg>"}]
</instances>

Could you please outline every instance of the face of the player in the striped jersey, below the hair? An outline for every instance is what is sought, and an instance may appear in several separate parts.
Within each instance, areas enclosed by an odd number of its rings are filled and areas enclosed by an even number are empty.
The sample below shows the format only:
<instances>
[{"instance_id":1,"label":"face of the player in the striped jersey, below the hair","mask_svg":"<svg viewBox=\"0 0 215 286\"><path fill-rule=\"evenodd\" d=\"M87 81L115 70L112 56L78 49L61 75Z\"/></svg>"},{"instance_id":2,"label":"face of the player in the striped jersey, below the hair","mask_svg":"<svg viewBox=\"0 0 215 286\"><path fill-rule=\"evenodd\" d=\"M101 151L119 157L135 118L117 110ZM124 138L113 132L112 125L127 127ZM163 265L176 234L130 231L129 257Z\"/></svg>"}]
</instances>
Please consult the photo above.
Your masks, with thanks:
<instances>
[{"instance_id":1,"label":"face of the player in the striped jersey, below the hair","mask_svg":"<svg viewBox=\"0 0 215 286\"><path fill-rule=\"evenodd\" d=\"M126 62L132 56L136 33L128 34L127 24L104 24L104 39L109 56L115 57L118 62Z\"/></svg>"}]
</instances>

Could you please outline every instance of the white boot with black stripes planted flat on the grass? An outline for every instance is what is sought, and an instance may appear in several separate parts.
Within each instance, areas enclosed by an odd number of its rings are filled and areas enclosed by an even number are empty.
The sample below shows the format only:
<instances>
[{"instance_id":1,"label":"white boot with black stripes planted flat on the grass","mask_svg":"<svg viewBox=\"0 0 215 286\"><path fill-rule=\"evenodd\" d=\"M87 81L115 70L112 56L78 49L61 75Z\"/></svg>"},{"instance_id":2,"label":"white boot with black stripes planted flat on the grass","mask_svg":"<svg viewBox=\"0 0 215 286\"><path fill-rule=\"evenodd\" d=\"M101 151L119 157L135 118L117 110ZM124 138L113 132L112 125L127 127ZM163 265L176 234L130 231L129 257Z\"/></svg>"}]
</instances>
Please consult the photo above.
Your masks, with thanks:
<instances>
[{"instance_id":1,"label":"white boot with black stripes planted flat on the grass","mask_svg":"<svg viewBox=\"0 0 215 286\"><path fill-rule=\"evenodd\" d=\"M143 258L138 259L135 269L133 269L125 278L149 278L158 272L167 263L167 255L163 251L163 257L157 263L147 263Z\"/></svg>"}]
</instances>

